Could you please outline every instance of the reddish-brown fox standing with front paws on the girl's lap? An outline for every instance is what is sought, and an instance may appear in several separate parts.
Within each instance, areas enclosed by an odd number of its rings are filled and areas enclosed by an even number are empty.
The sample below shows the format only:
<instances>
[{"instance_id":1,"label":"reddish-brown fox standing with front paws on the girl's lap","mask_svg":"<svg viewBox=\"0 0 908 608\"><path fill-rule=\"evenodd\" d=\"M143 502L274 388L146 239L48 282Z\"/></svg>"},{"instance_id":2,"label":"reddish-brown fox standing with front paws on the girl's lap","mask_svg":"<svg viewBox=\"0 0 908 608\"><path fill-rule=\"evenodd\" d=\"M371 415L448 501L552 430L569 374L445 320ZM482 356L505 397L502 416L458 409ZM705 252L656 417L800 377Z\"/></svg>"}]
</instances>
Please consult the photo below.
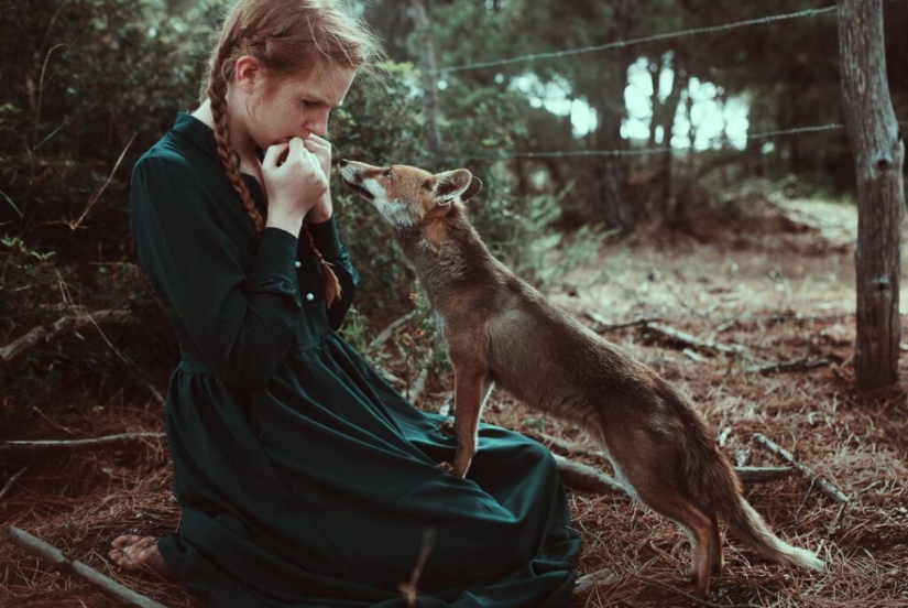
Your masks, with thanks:
<instances>
[{"instance_id":1,"label":"reddish-brown fox standing with front paws on the girl's lap","mask_svg":"<svg viewBox=\"0 0 908 608\"><path fill-rule=\"evenodd\" d=\"M601 444L631 497L677 523L691 545L694 590L724 567L719 521L778 563L823 561L769 529L691 400L650 367L580 324L492 256L467 213L482 182L341 160L339 172L390 225L441 328L455 373L450 473L466 477L493 387L576 424Z\"/></svg>"}]
</instances>

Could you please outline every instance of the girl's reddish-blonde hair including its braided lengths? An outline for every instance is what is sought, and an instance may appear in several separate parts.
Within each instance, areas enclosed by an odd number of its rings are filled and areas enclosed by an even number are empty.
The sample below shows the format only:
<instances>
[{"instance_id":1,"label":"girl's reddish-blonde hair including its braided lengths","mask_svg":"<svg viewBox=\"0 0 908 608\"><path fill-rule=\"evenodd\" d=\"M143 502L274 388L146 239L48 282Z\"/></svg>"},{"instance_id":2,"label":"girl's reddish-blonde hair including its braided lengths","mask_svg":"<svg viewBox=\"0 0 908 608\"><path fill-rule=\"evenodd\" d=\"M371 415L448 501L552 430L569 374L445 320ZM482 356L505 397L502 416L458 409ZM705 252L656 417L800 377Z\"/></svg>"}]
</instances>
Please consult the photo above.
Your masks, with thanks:
<instances>
[{"instance_id":1,"label":"girl's reddish-blonde hair including its braided lengths","mask_svg":"<svg viewBox=\"0 0 908 608\"><path fill-rule=\"evenodd\" d=\"M229 10L211 50L200 97L203 101L211 100L218 155L256 236L261 236L264 221L240 176L237 153L230 144L227 86L236 75L237 59L243 55L254 57L267 74L267 90L283 80L326 69L369 67L380 54L378 39L353 9L339 0L238 0ZM325 295L330 305L340 297L340 283L305 225L304 232L309 249L322 264Z\"/></svg>"}]
</instances>

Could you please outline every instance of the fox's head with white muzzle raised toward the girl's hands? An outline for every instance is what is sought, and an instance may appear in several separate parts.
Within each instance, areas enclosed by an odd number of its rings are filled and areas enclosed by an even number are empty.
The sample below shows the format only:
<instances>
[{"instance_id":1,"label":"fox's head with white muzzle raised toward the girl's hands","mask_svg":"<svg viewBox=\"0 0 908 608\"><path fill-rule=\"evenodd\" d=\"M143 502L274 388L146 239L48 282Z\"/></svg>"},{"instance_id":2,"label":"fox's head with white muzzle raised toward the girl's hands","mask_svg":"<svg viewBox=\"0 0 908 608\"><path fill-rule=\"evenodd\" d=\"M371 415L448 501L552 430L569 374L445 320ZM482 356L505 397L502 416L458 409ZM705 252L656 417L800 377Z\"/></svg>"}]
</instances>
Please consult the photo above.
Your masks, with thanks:
<instances>
[{"instance_id":1,"label":"fox's head with white muzzle raised toward the girl's hands","mask_svg":"<svg viewBox=\"0 0 908 608\"><path fill-rule=\"evenodd\" d=\"M395 229L435 224L482 187L466 169L431 174L415 166L372 166L342 160L340 175Z\"/></svg>"}]
</instances>

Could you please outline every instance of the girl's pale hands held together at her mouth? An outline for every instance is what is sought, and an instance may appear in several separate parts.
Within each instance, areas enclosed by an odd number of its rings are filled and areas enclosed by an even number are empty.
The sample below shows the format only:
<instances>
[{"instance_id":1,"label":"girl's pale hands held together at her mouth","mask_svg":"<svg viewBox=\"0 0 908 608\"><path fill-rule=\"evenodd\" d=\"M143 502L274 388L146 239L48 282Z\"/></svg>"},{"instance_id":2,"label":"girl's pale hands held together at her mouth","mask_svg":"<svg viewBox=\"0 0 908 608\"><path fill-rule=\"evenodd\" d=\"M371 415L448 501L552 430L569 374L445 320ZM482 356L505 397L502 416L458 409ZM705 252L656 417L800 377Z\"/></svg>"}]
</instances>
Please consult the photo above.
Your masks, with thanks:
<instances>
[{"instance_id":1,"label":"girl's pale hands held together at her mouth","mask_svg":"<svg viewBox=\"0 0 908 608\"><path fill-rule=\"evenodd\" d=\"M267 194L266 226L283 228L294 236L299 234L306 214L328 192L319 158L299 138L267 149L262 161L262 181Z\"/></svg>"}]
</instances>

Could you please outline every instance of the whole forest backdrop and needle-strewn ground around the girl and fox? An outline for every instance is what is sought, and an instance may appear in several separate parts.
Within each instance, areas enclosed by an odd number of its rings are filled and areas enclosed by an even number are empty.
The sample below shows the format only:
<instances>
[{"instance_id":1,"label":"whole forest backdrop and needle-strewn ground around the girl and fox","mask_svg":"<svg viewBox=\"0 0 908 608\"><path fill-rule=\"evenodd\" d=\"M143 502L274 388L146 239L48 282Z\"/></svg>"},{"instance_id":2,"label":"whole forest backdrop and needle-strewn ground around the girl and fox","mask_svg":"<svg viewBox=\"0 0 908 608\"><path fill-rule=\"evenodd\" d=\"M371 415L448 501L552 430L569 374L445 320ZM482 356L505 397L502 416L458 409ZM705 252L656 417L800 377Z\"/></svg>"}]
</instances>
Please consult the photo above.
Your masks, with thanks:
<instances>
[{"instance_id":1,"label":"whole forest backdrop and needle-strewn ground around the girl and fox","mask_svg":"<svg viewBox=\"0 0 908 608\"><path fill-rule=\"evenodd\" d=\"M0 0L0 442L145 433L116 449L0 445L0 520L172 607L198 602L103 556L116 534L179 523L162 432L179 355L136 264L130 170L196 107L225 1ZM905 132L908 0L880 1ZM761 568L730 550L709 605L905 606L908 402L854 391L855 164L834 0L354 6L387 63L332 112L335 158L470 169L494 253L691 394L736 466L778 464L764 435L817 470L746 492L830 568ZM374 210L332 187L362 275L342 332L439 410L450 368L414 276ZM506 395L484 415L606 466L594 445L576 449L576 428ZM817 489L819 475L842 491ZM617 573L572 606L704 605L666 586L687 567L674 526L569 489L580 573ZM0 605L117 602L0 542Z\"/></svg>"}]
</instances>

